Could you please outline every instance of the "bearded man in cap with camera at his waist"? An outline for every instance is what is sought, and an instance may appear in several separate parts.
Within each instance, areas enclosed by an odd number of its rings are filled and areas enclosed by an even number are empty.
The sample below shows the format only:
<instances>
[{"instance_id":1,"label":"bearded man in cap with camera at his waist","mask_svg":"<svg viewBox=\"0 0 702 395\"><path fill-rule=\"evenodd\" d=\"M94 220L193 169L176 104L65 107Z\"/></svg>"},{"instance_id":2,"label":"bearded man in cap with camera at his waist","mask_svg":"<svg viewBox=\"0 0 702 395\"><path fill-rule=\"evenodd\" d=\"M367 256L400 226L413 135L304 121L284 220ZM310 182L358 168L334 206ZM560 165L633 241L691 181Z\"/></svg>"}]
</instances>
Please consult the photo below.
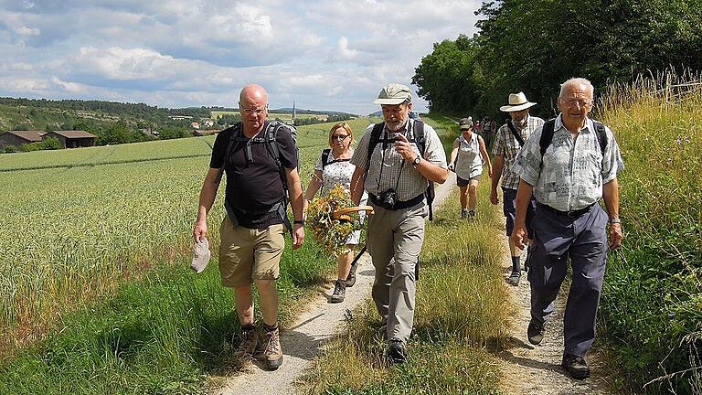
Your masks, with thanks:
<instances>
[{"instance_id":1,"label":"bearded man in cap with camera at his waist","mask_svg":"<svg viewBox=\"0 0 702 395\"><path fill-rule=\"evenodd\" d=\"M388 84L373 101L383 123L368 126L351 158L356 165L351 193L358 204L367 191L375 214L370 217L367 248L376 268L373 301L387 320L388 361L407 360L407 340L414 318L416 273L429 214L429 181L448 177L446 155L434 129L411 120L410 88Z\"/></svg>"}]
</instances>

